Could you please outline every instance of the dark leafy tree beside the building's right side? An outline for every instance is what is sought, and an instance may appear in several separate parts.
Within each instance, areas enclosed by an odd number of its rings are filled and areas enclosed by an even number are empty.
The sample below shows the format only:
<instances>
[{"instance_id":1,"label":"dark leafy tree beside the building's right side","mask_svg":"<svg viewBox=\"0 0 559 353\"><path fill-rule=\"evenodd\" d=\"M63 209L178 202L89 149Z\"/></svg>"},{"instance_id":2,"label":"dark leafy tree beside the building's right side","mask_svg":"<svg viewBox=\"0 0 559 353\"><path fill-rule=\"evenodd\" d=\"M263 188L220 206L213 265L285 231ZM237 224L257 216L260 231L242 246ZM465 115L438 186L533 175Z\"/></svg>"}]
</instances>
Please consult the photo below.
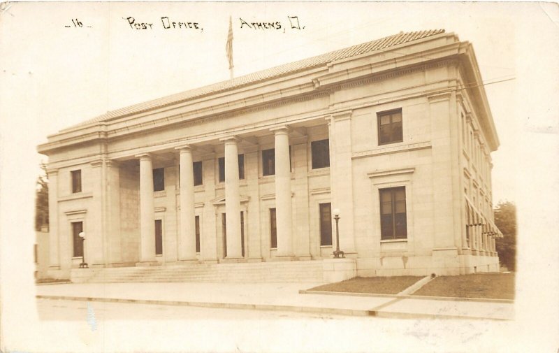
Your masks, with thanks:
<instances>
[{"instance_id":1,"label":"dark leafy tree beside the building's right side","mask_svg":"<svg viewBox=\"0 0 559 353\"><path fill-rule=\"evenodd\" d=\"M516 206L509 201L500 202L493 210L495 225L502 233L502 238L497 238L495 247L499 254L501 264L510 271L516 270Z\"/></svg>"}]
</instances>

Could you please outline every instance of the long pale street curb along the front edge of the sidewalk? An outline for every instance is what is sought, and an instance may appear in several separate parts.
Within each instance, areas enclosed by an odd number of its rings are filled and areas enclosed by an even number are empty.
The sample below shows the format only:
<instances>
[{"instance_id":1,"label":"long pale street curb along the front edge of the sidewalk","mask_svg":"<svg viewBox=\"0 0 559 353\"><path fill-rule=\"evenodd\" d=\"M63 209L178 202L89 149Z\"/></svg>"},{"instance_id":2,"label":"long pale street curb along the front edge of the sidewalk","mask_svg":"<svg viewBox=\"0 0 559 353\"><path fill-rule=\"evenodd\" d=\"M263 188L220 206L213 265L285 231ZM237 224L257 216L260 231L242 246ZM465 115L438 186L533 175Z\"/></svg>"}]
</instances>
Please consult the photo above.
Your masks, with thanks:
<instances>
[{"instance_id":1,"label":"long pale street curb along the front edge of the sidewalk","mask_svg":"<svg viewBox=\"0 0 559 353\"><path fill-rule=\"evenodd\" d=\"M273 304L244 304L244 303L212 303L199 301L157 301L149 299L119 299L119 298L99 298L81 296L48 296L36 295L37 299L61 300L61 301L97 301L103 303L136 303L151 305L178 305L191 306L197 308L216 308L216 309L240 309L240 310L268 310L268 311L289 311L289 312L311 312L314 314L331 314L344 316L370 316L390 319L471 319L471 320L497 320L509 321L502 318L488 317L469 317L458 315L433 315L433 314L412 314L409 312L386 312L379 310L354 310L340 308L319 308L310 306L294 305L273 305Z\"/></svg>"}]
</instances>

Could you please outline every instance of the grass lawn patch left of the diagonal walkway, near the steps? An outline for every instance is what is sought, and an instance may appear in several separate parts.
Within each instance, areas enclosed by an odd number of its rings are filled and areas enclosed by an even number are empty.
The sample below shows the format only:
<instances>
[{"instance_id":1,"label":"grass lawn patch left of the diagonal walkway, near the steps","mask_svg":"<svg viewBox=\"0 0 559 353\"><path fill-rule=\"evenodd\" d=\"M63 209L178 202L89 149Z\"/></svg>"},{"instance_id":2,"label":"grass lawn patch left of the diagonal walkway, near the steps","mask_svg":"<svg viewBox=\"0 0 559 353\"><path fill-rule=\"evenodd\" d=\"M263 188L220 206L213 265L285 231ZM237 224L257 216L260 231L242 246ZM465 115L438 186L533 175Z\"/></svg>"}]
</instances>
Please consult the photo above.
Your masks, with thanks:
<instances>
[{"instance_id":1,"label":"grass lawn patch left of the diagonal walkway, near the steps","mask_svg":"<svg viewBox=\"0 0 559 353\"><path fill-rule=\"evenodd\" d=\"M421 276L399 276L399 277L356 277L337 283L324 284L309 289L311 291L344 291L351 293L372 294L398 294L415 282L421 280Z\"/></svg>"}]
</instances>

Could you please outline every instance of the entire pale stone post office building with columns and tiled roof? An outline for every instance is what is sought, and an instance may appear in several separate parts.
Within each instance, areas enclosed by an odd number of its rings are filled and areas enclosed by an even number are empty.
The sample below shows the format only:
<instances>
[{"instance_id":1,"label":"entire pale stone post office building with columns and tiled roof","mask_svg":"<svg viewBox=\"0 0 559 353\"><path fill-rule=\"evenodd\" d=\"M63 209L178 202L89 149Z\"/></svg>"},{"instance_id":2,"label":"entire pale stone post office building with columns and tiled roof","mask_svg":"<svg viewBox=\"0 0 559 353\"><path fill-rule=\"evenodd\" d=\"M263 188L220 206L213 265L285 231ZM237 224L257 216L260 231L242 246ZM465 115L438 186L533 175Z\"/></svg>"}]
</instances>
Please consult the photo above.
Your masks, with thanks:
<instances>
[{"instance_id":1,"label":"entire pale stone post office building with columns and tiled roof","mask_svg":"<svg viewBox=\"0 0 559 353\"><path fill-rule=\"evenodd\" d=\"M472 45L444 31L115 110L38 148L49 156L49 273L80 264L79 222L90 267L330 259L335 209L350 260L328 271L497 271L497 147Z\"/></svg>"}]
</instances>

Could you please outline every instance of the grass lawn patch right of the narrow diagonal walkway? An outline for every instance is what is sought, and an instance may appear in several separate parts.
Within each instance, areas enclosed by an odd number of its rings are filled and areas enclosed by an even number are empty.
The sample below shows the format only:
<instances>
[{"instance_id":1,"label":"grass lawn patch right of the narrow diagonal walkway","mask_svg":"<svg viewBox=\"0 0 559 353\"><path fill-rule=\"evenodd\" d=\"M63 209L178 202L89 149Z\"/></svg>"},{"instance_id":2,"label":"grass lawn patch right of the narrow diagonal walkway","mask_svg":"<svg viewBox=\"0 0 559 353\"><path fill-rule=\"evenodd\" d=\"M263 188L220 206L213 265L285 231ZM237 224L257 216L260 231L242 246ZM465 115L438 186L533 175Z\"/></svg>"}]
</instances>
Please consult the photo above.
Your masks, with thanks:
<instances>
[{"instance_id":1,"label":"grass lawn patch right of the narrow diagonal walkway","mask_svg":"<svg viewBox=\"0 0 559 353\"><path fill-rule=\"evenodd\" d=\"M428 282L413 295L514 299L514 273L441 276Z\"/></svg>"}]
</instances>

